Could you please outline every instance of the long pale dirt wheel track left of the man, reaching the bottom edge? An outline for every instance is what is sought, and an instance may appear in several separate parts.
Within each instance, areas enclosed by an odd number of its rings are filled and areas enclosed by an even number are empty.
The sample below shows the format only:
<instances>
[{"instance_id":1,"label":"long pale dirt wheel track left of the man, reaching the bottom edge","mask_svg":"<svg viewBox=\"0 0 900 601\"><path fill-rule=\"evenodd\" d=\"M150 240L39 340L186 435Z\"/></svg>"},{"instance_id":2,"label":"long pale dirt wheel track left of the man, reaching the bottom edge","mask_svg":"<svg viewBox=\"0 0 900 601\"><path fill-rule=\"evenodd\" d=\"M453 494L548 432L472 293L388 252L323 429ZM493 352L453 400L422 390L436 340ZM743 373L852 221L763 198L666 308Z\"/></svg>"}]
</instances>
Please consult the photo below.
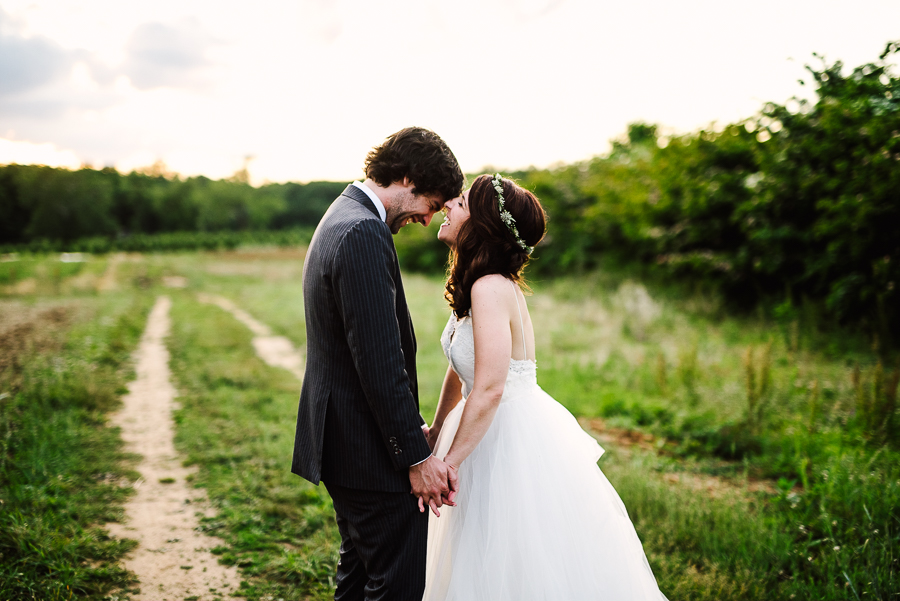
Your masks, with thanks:
<instances>
[{"instance_id":1,"label":"long pale dirt wheel track left of the man, reaching the bottom edge","mask_svg":"<svg viewBox=\"0 0 900 601\"><path fill-rule=\"evenodd\" d=\"M204 492L188 485L193 470L182 467L173 442L172 409L177 403L164 343L171 304L161 296L150 312L136 352L137 379L128 386L122 410L113 416L128 450L143 460L138 466L141 479L133 484L135 495L125 506L125 523L107 526L114 536L139 543L124 562L140 580L141 592L133 599L221 599L237 590L240 576L209 552L223 541L195 530L199 516L215 512Z\"/></svg>"}]
</instances>

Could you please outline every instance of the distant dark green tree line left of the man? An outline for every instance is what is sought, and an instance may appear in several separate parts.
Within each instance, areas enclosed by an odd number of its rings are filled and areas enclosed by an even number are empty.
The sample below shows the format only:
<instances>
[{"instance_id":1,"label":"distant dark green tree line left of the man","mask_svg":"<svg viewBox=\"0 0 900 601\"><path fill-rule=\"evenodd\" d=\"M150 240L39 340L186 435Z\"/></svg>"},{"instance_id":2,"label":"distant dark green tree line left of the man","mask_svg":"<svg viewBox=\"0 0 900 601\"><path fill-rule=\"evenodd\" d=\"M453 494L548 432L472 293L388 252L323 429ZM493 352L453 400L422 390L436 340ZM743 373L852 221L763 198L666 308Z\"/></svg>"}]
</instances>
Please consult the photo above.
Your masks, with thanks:
<instances>
[{"instance_id":1,"label":"distant dark green tree line left of the man","mask_svg":"<svg viewBox=\"0 0 900 601\"><path fill-rule=\"evenodd\" d=\"M344 186L254 188L246 172L223 180L182 179L159 165L127 175L113 168L6 165L0 167L0 247L70 250L85 239L127 246L129 238L148 234L311 229Z\"/></svg>"}]
</instances>

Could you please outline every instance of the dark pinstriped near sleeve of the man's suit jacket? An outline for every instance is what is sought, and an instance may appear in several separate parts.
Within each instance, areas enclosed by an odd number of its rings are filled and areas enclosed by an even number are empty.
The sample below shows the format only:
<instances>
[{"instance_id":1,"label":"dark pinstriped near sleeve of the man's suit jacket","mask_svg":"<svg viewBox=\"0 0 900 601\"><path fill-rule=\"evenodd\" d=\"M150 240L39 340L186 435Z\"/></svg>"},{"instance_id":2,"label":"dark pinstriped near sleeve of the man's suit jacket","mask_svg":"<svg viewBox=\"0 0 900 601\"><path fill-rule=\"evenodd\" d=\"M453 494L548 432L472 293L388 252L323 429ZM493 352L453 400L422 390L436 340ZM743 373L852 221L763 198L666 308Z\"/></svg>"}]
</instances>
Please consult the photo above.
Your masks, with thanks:
<instances>
[{"instance_id":1,"label":"dark pinstriped near sleeve of the man's suit jacket","mask_svg":"<svg viewBox=\"0 0 900 601\"><path fill-rule=\"evenodd\" d=\"M409 389L394 282L394 243L381 221L364 220L340 243L332 284L369 408L395 469L431 454Z\"/></svg>"}]
</instances>

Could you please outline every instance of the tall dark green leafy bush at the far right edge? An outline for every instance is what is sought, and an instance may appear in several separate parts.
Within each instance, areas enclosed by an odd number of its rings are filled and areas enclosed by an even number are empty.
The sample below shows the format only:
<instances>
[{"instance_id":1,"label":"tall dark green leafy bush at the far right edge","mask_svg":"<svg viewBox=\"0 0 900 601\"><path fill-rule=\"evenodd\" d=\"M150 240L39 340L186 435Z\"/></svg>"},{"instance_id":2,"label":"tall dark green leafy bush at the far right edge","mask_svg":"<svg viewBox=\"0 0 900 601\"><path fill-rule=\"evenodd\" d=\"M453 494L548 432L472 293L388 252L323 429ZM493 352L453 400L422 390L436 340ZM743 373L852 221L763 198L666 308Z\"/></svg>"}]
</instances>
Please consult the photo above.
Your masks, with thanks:
<instances>
[{"instance_id":1,"label":"tall dark green leafy bush at the far right edge","mask_svg":"<svg viewBox=\"0 0 900 601\"><path fill-rule=\"evenodd\" d=\"M897 332L900 284L900 77L881 60L844 75L809 68L814 105L768 105L758 202L745 211L769 287L824 298L840 319Z\"/></svg>"}]
</instances>

